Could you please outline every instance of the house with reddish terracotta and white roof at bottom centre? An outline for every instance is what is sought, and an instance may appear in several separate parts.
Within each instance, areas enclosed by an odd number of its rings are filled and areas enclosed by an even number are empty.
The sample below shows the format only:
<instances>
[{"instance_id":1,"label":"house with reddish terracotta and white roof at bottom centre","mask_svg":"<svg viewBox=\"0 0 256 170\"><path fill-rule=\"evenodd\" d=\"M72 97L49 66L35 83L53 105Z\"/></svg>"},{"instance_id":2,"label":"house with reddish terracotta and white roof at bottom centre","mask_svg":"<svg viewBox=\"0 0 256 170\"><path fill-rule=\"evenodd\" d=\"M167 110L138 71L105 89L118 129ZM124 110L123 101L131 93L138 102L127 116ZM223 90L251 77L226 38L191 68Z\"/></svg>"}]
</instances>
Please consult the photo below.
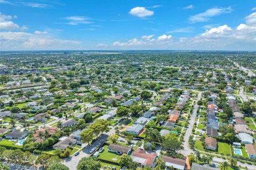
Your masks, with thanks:
<instances>
[{"instance_id":1,"label":"house with reddish terracotta and white roof at bottom centre","mask_svg":"<svg viewBox=\"0 0 256 170\"><path fill-rule=\"evenodd\" d=\"M139 163L141 168L150 167L154 168L154 162L157 157L156 153L147 154L143 149L136 149L132 152L133 162Z\"/></svg>"}]
</instances>

